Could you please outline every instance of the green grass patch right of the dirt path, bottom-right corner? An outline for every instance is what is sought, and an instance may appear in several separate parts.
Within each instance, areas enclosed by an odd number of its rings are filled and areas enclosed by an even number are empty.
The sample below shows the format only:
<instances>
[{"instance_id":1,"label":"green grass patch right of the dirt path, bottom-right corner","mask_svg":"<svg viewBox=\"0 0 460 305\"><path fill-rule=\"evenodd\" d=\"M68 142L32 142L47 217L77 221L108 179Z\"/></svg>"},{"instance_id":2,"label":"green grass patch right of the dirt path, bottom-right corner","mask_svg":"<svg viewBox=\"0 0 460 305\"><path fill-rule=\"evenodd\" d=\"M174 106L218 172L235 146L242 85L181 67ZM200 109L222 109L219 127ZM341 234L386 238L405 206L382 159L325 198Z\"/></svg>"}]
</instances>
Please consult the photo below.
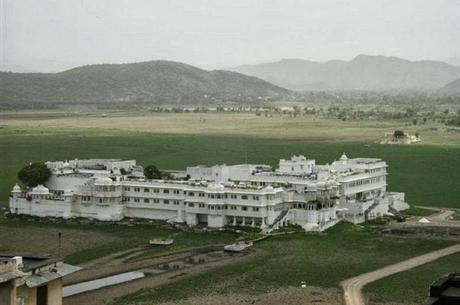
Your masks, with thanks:
<instances>
[{"instance_id":1,"label":"green grass patch right of the dirt path, bottom-right corner","mask_svg":"<svg viewBox=\"0 0 460 305\"><path fill-rule=\"evenodd\" d=\"M460 272L460 253L381 279L364 291L374 302L422 304L430 284L450 272Z\"/></svg>"}]
</instances>

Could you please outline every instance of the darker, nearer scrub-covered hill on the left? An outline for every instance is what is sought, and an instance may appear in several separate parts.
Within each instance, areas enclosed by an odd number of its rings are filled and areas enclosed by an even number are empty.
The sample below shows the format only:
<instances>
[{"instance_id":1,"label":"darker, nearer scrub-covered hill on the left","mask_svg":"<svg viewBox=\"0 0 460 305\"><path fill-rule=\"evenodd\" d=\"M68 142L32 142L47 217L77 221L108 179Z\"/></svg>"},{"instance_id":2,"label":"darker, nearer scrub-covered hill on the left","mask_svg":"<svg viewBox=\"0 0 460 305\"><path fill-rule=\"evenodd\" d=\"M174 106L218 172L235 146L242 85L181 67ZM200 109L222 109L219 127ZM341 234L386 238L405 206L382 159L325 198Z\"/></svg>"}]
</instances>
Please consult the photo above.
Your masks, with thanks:
<instances>
[{"instance_id":1,"label":"darker, nearer scrub-covered hill on the left","mask_svg":"<svg viewBox=\"0 0 460 305\"><path fill-rule=\"evenodd\" d=\"M252 101L291 94L266 81L170 61L83 66L60 73L0 72L0 103Z\"/></svg>"}]
</instances>

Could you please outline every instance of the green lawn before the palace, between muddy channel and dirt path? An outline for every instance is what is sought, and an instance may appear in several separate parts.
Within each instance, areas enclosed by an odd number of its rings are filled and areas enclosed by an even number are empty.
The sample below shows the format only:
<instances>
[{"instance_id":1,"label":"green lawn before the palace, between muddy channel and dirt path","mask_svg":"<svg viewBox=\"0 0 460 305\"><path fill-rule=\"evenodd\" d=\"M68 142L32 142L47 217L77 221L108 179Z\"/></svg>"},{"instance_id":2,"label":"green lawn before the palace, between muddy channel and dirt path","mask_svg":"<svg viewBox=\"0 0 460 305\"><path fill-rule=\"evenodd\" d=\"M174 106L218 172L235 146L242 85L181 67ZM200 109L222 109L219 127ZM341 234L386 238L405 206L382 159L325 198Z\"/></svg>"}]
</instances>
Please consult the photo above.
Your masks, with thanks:
<instances>
[{"instance_id":1,"label":"green lawn before the palace, between muddy channel and dirt path","mask_svg":"<svg viewBox=\"0 0 460 305\"><path fill-rule=\"evenodd\" d=\"M299 286L301 281L338 287L348 277L452 244L439 239L383 237L374 230L341 223L324 233L272 237L255 246L265 251L263 257L139 291L116 304L154 304L208 293L257 294L270 288Z\"/></svg>"}]
</instances>

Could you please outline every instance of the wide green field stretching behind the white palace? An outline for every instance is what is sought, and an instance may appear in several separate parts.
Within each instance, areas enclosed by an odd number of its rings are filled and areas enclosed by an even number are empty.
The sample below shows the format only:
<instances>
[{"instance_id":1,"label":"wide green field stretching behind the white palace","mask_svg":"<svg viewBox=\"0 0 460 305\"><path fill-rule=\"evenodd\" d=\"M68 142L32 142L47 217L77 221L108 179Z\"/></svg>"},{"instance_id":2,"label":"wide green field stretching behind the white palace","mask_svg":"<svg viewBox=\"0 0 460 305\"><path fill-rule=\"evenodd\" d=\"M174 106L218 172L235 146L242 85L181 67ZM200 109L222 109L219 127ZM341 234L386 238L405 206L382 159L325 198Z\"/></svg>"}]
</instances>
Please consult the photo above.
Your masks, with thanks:
<instances>
[{"instance_id":1,"label":"wide green field stretching behind the white palace","mask_svg":"<svg viewBox=\"0 0 460 305\"><path fill-rule=\"evenodd\" d=\"M5 204L16 173L29 162L73 158L129 158L162 169L216 163L266 163L304 154L318 163L379 157L389 164L389 190L411 204L460 207L460 147L389 146L367 142L269 139L225 135L174 135L103 129L0 128L0 201Z\"/></svg>"}]
</instances>

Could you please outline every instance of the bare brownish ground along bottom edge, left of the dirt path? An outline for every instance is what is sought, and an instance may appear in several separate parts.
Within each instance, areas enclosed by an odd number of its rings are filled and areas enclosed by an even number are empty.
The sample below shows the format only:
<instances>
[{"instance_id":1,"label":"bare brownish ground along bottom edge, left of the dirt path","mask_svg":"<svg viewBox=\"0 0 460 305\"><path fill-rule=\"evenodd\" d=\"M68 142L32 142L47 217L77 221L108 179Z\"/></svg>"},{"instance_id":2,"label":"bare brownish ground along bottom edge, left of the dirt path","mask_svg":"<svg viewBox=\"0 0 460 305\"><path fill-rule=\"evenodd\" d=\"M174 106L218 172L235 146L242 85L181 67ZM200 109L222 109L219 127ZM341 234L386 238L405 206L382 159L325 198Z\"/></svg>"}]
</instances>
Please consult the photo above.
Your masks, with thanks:
<instances>
[{"instance_id":1,"label":"bare brownish ground along bottom edge, left of the dirt path","mask_svg":"<svg viewBox=\"0 0 460 305\"><path fill-rule=\"evenodd\" d=\"M159 305L341 305L342 295L339 289L320 287L287 287L271 290L267 293L248 294L211 294L191 297L177 302L159 303Z\"/></svg>"}]
</instances>

